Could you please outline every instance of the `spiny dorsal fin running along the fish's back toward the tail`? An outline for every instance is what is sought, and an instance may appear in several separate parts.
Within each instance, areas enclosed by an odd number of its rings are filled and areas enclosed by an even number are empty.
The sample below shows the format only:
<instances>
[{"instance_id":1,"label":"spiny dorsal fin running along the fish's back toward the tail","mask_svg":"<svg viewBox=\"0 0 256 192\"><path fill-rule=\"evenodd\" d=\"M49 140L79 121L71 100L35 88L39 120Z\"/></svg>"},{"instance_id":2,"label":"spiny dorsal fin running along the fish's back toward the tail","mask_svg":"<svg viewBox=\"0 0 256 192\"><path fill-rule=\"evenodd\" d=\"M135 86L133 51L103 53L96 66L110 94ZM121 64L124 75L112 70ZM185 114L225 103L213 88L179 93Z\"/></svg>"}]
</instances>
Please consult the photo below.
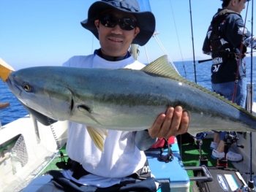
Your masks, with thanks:
<instances>
[{"instance_id":1,"label":"spiny dorsal fin running along the fish's back toward the tail","mask_svg":"<svg viewBox=\"0 0 256 192\"><path fill-rule=\"evenodd\" d=\"M244 110L244 108L240 107L237 104L234 104L232 101L228 101L223 96L220 96L219 94L213 91L210 91L207 88L197 85L195 82L191 82L185 79L184 77L181 77L181 75L178 74L178 72L176 72L172 66L170 66L169 61L167 59L167 55L163 55L162 57L157 58L157 60L151 62L150 64L148 64L147 66L145 66L143 69L140 69L140 70L152 76L169 78L171 80L176 80L178 82L183 82L183 83L186 83L187 85L191 85L201 91L211 94L212 96L216 96L218 99L221 99L222 101L227 102L233 107L236 107L238 110L241 110L246 114L249 114L249 112Z\"/></svg>"}]
</instances>

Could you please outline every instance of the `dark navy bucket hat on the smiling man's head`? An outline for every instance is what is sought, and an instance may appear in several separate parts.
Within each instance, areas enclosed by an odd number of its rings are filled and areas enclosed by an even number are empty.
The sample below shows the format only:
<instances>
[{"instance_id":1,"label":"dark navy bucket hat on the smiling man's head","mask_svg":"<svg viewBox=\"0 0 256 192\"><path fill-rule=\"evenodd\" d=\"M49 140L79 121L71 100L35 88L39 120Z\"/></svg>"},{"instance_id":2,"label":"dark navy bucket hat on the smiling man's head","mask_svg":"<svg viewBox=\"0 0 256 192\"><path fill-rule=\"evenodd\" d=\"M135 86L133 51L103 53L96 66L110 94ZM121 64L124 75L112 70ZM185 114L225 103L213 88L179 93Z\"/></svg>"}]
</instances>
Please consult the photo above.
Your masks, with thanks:
<instances>
[{"instance_id":1,"label":"dark navy bucket hat on the smiling man's head","mask_svg":"<svg viewBox=\"0 0 256 192\"><path fill-rule=\"evenodd\" d=\"M123 12L129 12L135 16L140 32L135 39L133 39L132 44L138 44L140 46L146 45L154 34L156 21L153 13L148 11L140 12L140 5L137 0L102 0L91 4L88 11L88 18L81 22L81 25L91 31L97 39L99 39L99 33L94 21L99 18L99 15L105 9L118 9Z\"/></svg>"}]
</instances>

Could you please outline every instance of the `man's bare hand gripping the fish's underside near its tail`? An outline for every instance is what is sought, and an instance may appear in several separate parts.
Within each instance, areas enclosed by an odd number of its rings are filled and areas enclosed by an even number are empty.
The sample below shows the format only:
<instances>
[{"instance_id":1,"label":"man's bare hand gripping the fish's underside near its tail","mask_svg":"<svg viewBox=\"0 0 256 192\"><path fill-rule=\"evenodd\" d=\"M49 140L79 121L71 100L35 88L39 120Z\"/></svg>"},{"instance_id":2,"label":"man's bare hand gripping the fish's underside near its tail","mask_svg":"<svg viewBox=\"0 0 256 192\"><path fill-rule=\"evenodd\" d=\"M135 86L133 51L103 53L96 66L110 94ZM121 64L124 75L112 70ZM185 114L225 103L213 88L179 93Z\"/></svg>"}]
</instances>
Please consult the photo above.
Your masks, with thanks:
<instances>
[{"instance_id":1,"label":"man's bare hand gripping the fish's underside near its tail","mask_svg":"<svg viewBox=\"0 0 256 192\"><path fill-rule=\"evenodd\" d=\"M189 113L182 107L169 107L165 114L160 114L154 125L148 128L150 137L168 139L171 136L187 133L189 127Z\"/></svg>"}]
</instances>

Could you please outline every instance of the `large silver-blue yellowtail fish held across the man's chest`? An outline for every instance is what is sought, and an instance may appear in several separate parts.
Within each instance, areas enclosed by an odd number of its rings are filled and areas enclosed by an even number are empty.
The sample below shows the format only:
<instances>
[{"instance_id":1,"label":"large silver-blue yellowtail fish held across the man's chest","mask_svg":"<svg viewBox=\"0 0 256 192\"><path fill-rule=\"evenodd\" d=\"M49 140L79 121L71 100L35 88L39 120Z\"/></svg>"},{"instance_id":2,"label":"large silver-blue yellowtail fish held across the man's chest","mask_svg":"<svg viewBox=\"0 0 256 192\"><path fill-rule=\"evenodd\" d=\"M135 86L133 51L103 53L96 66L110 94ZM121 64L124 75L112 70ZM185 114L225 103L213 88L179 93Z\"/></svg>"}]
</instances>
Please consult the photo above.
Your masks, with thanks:
<instances>
[{"instance_id":1,"label":"large silver-blue yellowtail fish held across the man's chest","mask_svg":"<svg viewBox=\"0 0 256 192\"><path fill-rule=\"evenodd\" d=\"M27 107L55 120L71 120L89 129L103 150L106 129L150 128L167 107L190 113L189 133L256 131L256 118L206 88L181 77L166 56L141 70L40 66L12 72L12 93Z\"/></svg>"}]
</instances>

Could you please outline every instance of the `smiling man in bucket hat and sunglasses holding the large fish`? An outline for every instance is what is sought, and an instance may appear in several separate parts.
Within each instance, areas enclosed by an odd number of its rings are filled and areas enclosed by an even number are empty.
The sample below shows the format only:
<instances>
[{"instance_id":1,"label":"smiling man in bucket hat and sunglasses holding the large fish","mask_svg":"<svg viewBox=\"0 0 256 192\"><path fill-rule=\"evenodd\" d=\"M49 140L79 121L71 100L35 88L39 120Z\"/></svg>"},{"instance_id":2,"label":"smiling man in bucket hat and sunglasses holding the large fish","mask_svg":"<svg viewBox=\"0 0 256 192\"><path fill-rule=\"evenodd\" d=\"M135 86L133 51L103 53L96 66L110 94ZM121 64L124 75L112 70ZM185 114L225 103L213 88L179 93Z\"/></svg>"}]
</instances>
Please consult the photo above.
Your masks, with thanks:
<instances>
[{"instance_id":1,"label":"smiling man in bucket hat and sunglasses holding the large fish","mask_svg":"<svg viewBox=\"0 0 256 192\"><path fill-rule=\"evenodd\" d=\"M137 0L102 0L91 4L81 25L99 39L92 55L73 56L64 66L105 69L142 69L129 54L129 46L143 46L152 37L155 18L140 12ZM92 142L86 126L69 122L67 155L62 172L51 171L49 183L37 191L157 191L146 155L157 138L187 132L189 115L182 107L169 107L143 131L108 130L104 153ZM175 167L173 167L175 169Z\"/></svg>"}]
</instances>

